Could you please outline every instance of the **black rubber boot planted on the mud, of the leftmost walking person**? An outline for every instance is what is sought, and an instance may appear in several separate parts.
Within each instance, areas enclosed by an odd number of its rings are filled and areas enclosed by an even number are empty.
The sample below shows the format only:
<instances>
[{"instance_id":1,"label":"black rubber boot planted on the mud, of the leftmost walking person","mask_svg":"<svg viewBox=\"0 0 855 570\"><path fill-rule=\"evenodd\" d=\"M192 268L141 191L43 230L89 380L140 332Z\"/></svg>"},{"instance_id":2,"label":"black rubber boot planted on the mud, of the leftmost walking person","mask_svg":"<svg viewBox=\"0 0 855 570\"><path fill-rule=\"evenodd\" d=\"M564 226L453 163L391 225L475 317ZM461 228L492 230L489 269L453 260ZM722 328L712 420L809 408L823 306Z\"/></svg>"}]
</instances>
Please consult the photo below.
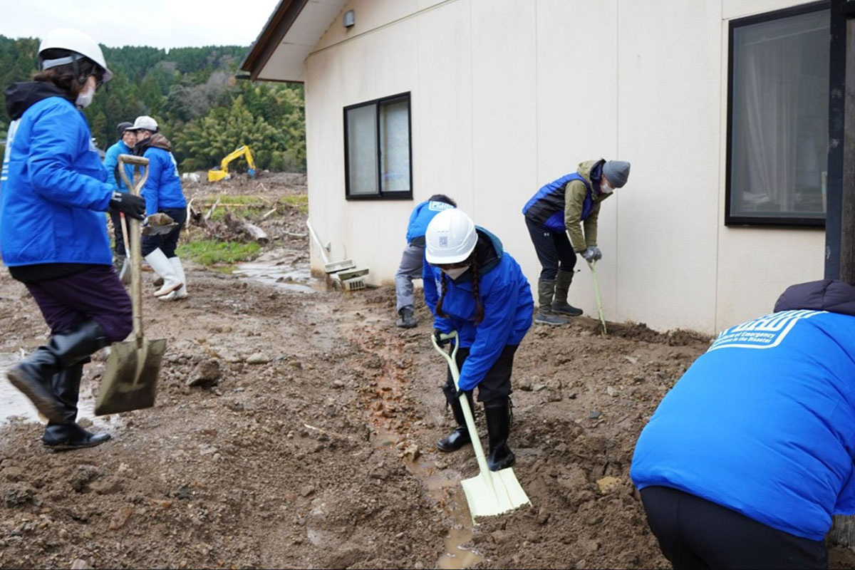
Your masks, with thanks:
<instances>
[{"instance_id":1,"label":"black rubber boot planted on the mud, of the leftmost walking person","mask_svg":"<svg viewBox=\"0 0 855 570\"><path fill-rule=\"evenodd\" d=\"M86 359L88 360L88 359ZM83 375L83 362L73 364L51 379L53 391L64 407L62 422L49 421L42 434L44 447L54 450L78 450L103 444L110 438L109 433L90 433L78 426L77 400L80 397L80 377Z\"/></svg>"}]
</instances>

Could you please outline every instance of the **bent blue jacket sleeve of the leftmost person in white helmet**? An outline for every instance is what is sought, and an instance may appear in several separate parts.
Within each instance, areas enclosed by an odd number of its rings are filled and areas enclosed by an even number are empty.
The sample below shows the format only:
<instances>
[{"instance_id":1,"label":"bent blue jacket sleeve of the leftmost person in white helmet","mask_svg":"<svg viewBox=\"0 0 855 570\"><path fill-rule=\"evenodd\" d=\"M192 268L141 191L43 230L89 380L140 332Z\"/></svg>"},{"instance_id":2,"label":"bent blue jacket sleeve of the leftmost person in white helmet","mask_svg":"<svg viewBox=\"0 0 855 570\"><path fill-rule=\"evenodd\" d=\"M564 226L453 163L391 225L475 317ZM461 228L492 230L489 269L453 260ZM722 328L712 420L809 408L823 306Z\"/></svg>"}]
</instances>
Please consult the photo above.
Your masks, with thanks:
<instances>
[{"instance_id":1,"label":"bent blue jacket sleeve of the leftmost person in white helmet","mask_svg":"<svg viewBox=\"0 0 855 570\"><path fill-rule=\"evenodd\" d=\"M69 109L77 113L77 110ZM50 202L74 208L106 212L113 188L107 182L71 169L76 154L80 117L70 113L46 113L32 124L27 171L30 185Z\"/></svg>"}]
</instances>

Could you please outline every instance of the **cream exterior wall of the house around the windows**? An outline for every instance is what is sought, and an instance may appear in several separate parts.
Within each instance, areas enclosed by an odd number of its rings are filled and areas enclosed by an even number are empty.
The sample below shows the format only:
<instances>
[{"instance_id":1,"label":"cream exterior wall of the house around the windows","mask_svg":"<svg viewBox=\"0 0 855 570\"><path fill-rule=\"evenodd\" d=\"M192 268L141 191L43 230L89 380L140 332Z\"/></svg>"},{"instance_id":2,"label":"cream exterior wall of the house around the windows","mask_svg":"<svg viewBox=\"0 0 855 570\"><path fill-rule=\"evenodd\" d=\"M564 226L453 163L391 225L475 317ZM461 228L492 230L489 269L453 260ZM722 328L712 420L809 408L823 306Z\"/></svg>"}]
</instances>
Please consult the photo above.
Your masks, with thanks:
<instances>
[{"instance_id":1,"label":"cream exterior wall of the house around the windows","mask_svg":"<svg viewBox=\"0 0 855 570\"><path fill-rule=\"evenodd\" d=\"M604 203L605 316L716 332L823 277L824 234L728 228L728 21L785 0L352 0L305 62L310 217L331 256L391 283L410 210L457 199L529 281L522 205L578 162L632 162ZM346 105L410 91L412 201L345 201ZM321 259L313 248L313 267ZM570 302L595 314L581 258ZM391 317L391 315L390 315Z\"/></svg>"}]
</instances>

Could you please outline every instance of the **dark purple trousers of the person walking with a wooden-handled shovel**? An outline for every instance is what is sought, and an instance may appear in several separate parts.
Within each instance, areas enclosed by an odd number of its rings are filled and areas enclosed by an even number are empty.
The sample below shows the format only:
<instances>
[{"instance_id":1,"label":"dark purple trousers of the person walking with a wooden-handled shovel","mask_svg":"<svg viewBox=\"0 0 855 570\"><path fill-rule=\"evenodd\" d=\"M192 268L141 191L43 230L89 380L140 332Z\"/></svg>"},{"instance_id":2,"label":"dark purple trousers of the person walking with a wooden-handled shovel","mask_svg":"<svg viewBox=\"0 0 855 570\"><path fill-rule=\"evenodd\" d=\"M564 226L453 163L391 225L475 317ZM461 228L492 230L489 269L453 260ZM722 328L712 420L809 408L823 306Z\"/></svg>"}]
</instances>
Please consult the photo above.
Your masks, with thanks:
<instances>
[{"instance_id":1,"label":"dark purple trousers of the person walking with a wooden-handled shovel","mask_svg":"<svg viewBox=\"0 0 855 570\"><path fill-rule=\"evenodd\" d=\"M101 325L111 342L131 333L131 297L112 266L98 265L68 277L27 283L27 289L53 334L89 319Z\"/></svg>"}]
</instances>

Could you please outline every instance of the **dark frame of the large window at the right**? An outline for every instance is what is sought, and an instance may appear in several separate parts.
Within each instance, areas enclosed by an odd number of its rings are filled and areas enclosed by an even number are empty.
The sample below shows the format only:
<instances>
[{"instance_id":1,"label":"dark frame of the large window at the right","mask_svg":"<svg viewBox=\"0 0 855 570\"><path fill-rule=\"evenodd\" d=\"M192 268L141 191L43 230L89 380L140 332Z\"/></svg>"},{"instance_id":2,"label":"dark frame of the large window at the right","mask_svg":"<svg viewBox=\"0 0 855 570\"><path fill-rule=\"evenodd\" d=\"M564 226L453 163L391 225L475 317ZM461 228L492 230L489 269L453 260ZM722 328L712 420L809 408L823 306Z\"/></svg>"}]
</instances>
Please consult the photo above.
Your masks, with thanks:
<instances>
[{"instance_id":1,"label":"dark frame of the large window at the right","mask_svg":"<svg viewBox=\"0 0 855 570\"><path fill-rule=\"evenodd\" d=\"M737 28L752 26L767 21L781 20L783 18L810 14L831 9L830 0L818 0L817 2L799 4L790 8L764 12L763 14L736 18L728 22L728 118L727 139L725 150L725 182L724 182L724 225L725 226L760 226L760 227L786 227L786 228L824 228L828 210L822 218L795 217L795 216L750 216L730 214L732 187L732 166L734 144L734 37ZM830 63L830 62L829 62Z\"/></svg>"}]
</instances>

